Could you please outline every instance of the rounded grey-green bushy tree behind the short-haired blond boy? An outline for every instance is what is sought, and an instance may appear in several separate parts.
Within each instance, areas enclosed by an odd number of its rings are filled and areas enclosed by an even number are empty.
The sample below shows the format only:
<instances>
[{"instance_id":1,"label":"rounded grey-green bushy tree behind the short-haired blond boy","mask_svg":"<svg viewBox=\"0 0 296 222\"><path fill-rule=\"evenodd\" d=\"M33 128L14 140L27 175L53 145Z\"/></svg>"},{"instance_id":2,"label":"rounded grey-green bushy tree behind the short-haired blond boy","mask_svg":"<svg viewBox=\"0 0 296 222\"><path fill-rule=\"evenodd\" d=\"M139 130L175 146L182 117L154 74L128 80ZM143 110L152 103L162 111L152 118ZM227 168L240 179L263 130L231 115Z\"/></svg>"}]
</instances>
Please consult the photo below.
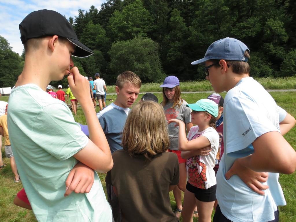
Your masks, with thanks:
<instances>
[{"instance_id":1,"label":"rounded grey-green bushy tree behind the short-haired blond boy","mask_svg":"<svg viewBox=\"0 0 296 222\"><path fill-rule=\"evenodd\" d=\"M109 51L110 69L113 72L110 82L114 83L117 75L126 70L139 75L144 83L163 81L165 75L160 64L158 49L158 44L146 37L135 37L113 43Z\"/></svg>"}]
</instances>

